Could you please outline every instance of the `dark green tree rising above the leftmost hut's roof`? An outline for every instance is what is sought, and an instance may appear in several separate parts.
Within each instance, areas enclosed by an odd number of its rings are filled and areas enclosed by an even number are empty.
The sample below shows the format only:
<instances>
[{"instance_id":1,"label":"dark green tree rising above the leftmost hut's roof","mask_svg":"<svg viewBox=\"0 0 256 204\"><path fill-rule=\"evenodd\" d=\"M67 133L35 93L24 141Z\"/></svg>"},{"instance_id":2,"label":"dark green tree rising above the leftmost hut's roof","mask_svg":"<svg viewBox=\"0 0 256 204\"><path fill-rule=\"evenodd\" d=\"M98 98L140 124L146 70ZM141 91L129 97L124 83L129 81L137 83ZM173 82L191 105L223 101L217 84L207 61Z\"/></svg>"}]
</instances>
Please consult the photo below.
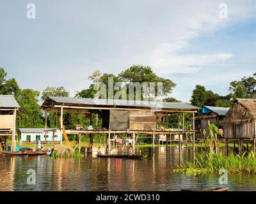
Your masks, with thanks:
<instances>
[{"instance_id":1,"label":"dark green tree rising above the leftmost hut's roof","mask_svg":"<svg viewBox=\"0 0 256 204\"><path fill-rule=\"evenodd\" d=\"M14 95L19 94L20 88L15 78L6 80L7 73L3 68L0 68L0 94Z\"/></svg>"}]
</instances>

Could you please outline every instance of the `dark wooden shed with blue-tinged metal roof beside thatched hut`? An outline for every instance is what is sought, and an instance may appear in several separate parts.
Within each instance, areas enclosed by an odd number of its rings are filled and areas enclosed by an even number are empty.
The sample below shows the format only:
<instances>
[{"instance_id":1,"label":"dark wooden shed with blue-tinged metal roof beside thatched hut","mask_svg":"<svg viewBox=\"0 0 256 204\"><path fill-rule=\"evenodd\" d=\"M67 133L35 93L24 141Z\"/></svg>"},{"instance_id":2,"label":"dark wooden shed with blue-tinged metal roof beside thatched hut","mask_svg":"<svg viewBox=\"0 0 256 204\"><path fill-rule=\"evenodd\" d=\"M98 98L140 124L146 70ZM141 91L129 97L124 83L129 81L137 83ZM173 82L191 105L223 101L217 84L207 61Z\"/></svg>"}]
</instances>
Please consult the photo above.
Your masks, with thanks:
<instances>
[{"instance_id":1,"label":"dark wooden shed with blue-tinged metal roof beside thatched hut","mask_svg":"<svg viewBox=\"0 0 256 204\"><path fill-rule=\"evenodd\" d=\"M229 108L218 106L204 106L200 113L195 116L196 129L200 131L198 137L204 137L203 131L207 131L208 124L217 124L223 120Z\"/></svg>"}]
</instances>

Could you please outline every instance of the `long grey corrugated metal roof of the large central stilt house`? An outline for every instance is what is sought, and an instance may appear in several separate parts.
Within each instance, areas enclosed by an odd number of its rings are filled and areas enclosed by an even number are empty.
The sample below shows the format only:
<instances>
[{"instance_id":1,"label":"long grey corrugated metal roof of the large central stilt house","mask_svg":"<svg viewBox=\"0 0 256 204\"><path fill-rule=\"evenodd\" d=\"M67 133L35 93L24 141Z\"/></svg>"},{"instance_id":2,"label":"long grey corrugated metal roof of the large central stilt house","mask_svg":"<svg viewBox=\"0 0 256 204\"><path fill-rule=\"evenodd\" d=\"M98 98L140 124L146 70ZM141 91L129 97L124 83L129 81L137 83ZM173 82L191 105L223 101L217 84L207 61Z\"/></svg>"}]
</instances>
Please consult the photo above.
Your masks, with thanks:
<instances>
[{"instance_id":1,"label":"long grey corrugated metal roof of the large central stilt house","mask_svg":"<svg viewBox=\"0 0 256 204\"><path fill-rule=\"evenodd\" d=\"M189 105L182 102L150 102L150 101L132 101L118 99L90 99L90 98L65 98L49 96L56 103L69 103L74 105L104 105L104 106L133 106L148 108L167 108L167 109L183 109L198 110L199 107Z\"/></svg>"}]
</instances>

